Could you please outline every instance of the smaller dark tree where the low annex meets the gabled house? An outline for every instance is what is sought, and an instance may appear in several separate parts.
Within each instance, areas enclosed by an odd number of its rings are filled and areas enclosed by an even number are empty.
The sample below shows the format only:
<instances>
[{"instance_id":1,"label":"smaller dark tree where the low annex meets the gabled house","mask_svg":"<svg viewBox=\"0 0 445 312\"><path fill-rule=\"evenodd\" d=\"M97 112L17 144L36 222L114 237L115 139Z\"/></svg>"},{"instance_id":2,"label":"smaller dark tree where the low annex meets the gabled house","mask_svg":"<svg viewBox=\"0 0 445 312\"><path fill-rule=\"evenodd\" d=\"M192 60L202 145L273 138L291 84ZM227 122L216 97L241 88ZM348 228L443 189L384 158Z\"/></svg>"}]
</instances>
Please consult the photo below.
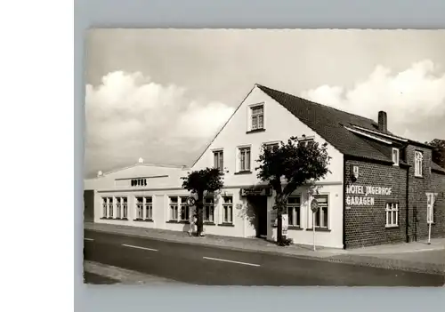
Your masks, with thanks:
<instances>
[{"instance_id":1,"label":"smaller dark tree where the low annex meets the gabled house","mask_svg":"<svg viewBox=\"0 0 445 312\"><path fill-rule=\"evenodd\" d=\"M196 207L198 211L197 234L201 236L203 231L203 207L204 193L215 192L223 188L223 173L216 168L206 168L199 171L189 172L187 177L182 177L182 188L187 189L191 194L198 196Z\"/></svg>"}]
</instances>

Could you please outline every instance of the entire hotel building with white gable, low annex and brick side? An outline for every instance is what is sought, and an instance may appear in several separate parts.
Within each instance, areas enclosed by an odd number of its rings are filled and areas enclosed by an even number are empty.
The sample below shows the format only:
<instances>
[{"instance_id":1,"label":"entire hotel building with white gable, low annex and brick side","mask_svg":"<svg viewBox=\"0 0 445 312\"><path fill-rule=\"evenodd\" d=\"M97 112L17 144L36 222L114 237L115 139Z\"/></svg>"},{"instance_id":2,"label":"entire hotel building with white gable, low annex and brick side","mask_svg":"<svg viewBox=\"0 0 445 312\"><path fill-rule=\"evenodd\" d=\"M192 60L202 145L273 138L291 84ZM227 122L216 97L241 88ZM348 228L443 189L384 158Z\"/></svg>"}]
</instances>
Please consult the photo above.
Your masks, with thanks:
<instances>
[{"instance_id":1,"label":"entire hotel building with white gable, low annex and brick side","mask_svg":"<svg viewBox=\"0 0 445 312\"><path fill-rule=\"evenodd\" d=\"M377 115L377 114L376 114ZM445 169L432 148L377 122L260 84L247 94L214 140L190 167L138 164L85 180L85 219L147 228L189 230L194 207L181 177L206 167L224 173L224 187L206 197L205 231L222 236L277 236L274 192L256 177L263 145L291 136L328 143L330 173L320 190L288 198L287 236L296 244L354 248L445 236ZM310 203L320 209L312 215Z\"/></svg>"}]
</instances>

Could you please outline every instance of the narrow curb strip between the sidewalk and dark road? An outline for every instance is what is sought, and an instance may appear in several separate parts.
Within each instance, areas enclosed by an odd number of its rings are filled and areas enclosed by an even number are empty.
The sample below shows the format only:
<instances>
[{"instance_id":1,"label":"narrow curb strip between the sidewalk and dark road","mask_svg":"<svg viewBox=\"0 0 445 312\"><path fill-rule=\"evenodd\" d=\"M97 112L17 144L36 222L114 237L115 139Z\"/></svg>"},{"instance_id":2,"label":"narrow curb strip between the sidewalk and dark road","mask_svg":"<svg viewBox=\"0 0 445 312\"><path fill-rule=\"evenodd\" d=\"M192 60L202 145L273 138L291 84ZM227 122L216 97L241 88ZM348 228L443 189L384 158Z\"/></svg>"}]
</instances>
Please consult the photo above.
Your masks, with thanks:
<instances>
[{"instance_id":1,"label":"narrow curb strip between the sidewalk and dark road","mask_svg":"<svg viewBox=\"0 0 445 312\"><path fill-rule=\"evenodd\" d=\"M368 259L376 260L377 263L370 263L366 260L351 260L351 259L338 259L335 257L341 257L344 256L344 254L337 254L327 257L316 257L316 256L310 256L310 255L303 255L303 254L295 254L295 253L287 253L287 252L276 252L276 251L264 251L264 250L258 250L255 248L241 248L241 247L232 247L232 246L223 246L219 244L212 244L208 242L184 242L180 239L171 239L171 238L165 238L165 237L153 237L153 236L144 236L144 235L138 235L138 234L126 234L121 233L119 231L112 231L107 229L98 229L98 228L84 228L85 230L90 230L93 232L101 232L101 233L110 233L110 234L117 234L122 236L130 236L130 237L137 237L137 238L150 238L153 240L161 241L161 242L169 242L169 243L176 243L176 244L189 244L189 245L204 245L207 247L214 247L218 249L224 249L224 250L231 250L236 252L257 252L262 254L273 254L273 255L279 255L279 256L286 256L286 257L292 257L297 259L304 259L304 260L316 260L316 261L323 261L323 262L332 262L332 263L342 263L342 264L348 264L358 267L371 267L371 268L384 268L384 269L397 269L405 272L411 272L411 273L422 273L422 274L433 274L433 275L440 275L445 277L445 270L442 268L417 268L414 266L403 266L394 262L401 262L401 260L386 260L387 263L378 263L378 261L382 261L379 258L372 257L372 256L366 256ZM283 247L286 248L286 247ZM363 257L360 255L352 255L355 257ZM428 265L426 265L428 266ZM430 265L431 266L431 265Z\"/></svg>"}]
</instances>

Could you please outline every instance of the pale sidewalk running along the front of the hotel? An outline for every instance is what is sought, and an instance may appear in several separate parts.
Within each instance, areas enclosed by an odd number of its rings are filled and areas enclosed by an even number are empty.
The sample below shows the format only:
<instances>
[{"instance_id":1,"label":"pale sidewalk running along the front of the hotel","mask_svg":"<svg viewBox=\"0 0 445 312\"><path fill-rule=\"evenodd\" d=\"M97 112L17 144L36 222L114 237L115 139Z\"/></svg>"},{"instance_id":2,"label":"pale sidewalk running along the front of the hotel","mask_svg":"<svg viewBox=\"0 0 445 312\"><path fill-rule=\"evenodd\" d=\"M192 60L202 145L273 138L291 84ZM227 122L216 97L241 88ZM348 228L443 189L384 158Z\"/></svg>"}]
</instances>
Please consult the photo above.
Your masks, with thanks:
<instances>
[{"instance_id":1,"label":"pale sidewalk running along the front of the hotel","mask_svg":"<svg viewBox=\"0 0 445 312\"><path fill-rule=\"evenodd\" d=\"M294 244L280 247L260 238L231 236L190 237L186 232L158 228L137 228L85 222L85 229L116 233L125 236L150 237L182 244L203 244L249 252L267 252L298 258L341 262L375 268L401 269L411 272L440 274L445 276L445 239L433 239L432 244L416 242L366 247L353 250L317 247Z\"/></svg>"}]
</instances>

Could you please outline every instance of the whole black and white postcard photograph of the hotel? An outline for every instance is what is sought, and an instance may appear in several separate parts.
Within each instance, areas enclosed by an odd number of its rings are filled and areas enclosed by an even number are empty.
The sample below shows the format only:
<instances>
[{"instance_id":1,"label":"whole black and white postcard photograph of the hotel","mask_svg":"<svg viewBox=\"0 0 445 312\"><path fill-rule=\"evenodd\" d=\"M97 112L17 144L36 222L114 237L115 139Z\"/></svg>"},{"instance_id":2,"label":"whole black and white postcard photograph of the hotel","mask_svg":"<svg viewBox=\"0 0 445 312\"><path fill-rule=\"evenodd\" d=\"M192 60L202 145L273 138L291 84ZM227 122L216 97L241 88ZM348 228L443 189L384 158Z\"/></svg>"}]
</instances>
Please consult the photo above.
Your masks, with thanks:
<instances>
[{"instance_id":1,"label":"whole black and white postcard photograph of the hotel","mask_svg":"<svg viewBox=\"0 0 445 312\"><path fill-rule=\"evenodd\" d=\"M445 284L445 31L92 28L84 283Z\"/></svg>"}]
</instances>

